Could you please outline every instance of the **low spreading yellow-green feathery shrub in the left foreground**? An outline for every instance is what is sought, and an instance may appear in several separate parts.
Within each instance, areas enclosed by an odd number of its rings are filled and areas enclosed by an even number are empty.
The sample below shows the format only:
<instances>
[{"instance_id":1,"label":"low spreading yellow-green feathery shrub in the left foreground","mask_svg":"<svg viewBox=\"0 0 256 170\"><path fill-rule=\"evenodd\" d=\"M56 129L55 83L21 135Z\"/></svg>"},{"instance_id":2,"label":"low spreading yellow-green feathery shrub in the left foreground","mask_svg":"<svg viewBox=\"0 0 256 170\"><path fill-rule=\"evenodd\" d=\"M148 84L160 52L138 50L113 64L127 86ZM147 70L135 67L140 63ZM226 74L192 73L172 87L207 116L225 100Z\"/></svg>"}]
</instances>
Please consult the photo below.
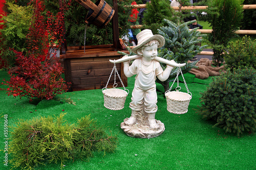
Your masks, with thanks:
<instances>
[{"instance_id":1,"label":"low spreading yellow-green feathery shrub in the left foreground","mask_svg":"<svg viewBox=\"0 0 256 170\"><path fill-rule=\"evenodd\" d=\"M63 163L68 159L89 158L94 151L113 152L116 136L109 136L104 128L89 116L69 124L63 118L40 117L19 120L12 127L10 153L13 167L33 169L46 162Z\"/></svg>"}]
</instances>

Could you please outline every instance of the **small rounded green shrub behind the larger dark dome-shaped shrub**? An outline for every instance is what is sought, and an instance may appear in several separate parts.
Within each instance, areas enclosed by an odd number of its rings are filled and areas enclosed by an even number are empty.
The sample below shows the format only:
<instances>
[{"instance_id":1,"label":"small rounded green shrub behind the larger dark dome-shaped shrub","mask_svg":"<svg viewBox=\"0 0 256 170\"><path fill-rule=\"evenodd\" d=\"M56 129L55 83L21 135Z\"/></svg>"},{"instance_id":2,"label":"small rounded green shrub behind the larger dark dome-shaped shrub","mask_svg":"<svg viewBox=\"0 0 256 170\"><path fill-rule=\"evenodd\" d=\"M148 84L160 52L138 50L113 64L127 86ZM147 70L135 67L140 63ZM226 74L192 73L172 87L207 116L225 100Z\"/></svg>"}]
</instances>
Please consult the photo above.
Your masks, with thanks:
<instances>
[{"instance_id":1,"label":"small rounded green shrub behind the larger dark dome-shaped shrub","mask_svg":"<svg viewBox=\"0 0 256 170\"><path fill-rule=\"evenodd\" d=\"M229 42L230 47L228 53L225 54L224 60L227 67L233 68L244 68L253 67L256 69L256 42L251 41L250 37L243 37L236 43Z\"/></svg>"}]
</instances>

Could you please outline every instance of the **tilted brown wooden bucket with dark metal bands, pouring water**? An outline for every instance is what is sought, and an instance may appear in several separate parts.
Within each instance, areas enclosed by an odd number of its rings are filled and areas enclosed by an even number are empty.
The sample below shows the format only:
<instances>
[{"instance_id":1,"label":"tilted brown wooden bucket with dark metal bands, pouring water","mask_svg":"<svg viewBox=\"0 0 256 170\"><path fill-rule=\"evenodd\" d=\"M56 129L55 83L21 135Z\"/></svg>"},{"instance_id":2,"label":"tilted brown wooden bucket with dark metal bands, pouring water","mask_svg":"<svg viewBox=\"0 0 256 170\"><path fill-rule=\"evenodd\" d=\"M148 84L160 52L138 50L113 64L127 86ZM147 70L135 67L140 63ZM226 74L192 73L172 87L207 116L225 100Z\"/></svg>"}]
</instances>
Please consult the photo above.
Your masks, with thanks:
<instances>
[{"instance_id":1,"label":"tilted brown wooden bucket with dark metal bands, pouring water","mask_svg":"<svg viewBox=\"0 0 256 170\"><path fill-rule=\"evenodd\" d=\"M106 26L115 13L115 10L104 0L98 0L95 4L90 0L75 1L89 10L86 15L86 23L91 22L99 28Z\"/></svg>"}]
</instances>

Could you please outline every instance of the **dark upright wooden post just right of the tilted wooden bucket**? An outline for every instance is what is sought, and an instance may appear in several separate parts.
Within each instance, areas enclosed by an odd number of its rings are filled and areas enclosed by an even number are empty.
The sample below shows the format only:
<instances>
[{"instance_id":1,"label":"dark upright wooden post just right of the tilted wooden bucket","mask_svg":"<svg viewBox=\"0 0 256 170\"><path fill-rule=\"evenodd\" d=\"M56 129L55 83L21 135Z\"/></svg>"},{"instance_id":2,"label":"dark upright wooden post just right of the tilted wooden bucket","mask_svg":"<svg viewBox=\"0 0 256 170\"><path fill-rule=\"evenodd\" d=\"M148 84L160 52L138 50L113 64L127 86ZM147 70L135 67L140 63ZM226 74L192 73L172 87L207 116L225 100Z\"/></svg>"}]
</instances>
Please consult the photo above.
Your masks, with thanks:
<instances>
[{"instance_id":1,"label":"dark upright wooden post just right of the tilted wooden bucket","mask_svg":"<svg viewBox=\"0 0 256 170\"><path fill-rule=\"evenodd\" d=\"M117 0L113 0L113 9L115 10L115 14L112 18L112 27L113 27L113 45L115 51L117 51L119 45L119 30L118 30L118 11L117 11Z\"/></svg>"}]
</instances>

